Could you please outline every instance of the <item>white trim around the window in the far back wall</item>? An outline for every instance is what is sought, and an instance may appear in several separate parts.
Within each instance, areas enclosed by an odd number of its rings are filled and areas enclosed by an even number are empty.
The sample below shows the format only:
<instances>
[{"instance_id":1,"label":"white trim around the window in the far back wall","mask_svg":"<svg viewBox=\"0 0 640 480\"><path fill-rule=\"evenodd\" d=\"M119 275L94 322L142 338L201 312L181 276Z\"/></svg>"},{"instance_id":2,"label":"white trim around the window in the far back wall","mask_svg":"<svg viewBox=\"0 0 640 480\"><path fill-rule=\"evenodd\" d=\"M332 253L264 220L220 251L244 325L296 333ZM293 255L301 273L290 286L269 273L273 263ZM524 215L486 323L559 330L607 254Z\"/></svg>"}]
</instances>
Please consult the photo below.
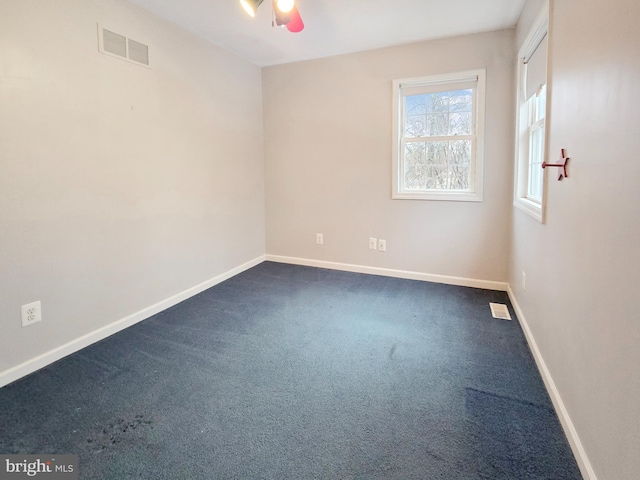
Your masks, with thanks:
<instances>
[{"instance_id":1,"label":"white trim around the window in the far back wall","mask_svg":"<svg viewBox=\"0 0 640 480\"><path fill-rule=\"evenodd\" d=\"M439 201L457 201L457 202L482 202L484 187L484 128L485 128L485 96L486 96L486 78L487 70L480 68L477 70L468 70L464 72L430 75L428 77L408 78L393 81L393 125L392 125L392 188L391 198L394 200L439 200ZM401 98L400 89L408 87L412 84L431 84L439 85L446 83L458 83L465 81L476 81L476 157L474 165L474 191L425 191L425 192L401 192L400 178L400 130L402 128L402 112L399 108L398 101ZM482 135L479 135L482 132Z\"/></svg>"}]
</instances>

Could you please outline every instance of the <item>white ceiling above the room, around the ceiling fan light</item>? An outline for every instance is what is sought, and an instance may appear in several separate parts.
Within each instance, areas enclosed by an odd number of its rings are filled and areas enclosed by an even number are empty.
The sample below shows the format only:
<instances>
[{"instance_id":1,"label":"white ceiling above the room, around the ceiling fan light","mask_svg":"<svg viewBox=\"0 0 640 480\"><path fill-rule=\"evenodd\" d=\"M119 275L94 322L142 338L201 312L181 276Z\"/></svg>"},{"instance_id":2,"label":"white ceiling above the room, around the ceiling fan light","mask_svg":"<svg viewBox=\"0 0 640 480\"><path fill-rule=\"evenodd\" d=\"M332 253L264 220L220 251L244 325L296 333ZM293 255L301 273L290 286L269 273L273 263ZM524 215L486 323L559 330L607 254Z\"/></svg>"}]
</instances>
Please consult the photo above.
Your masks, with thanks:
<instances>
[{"instance_id":1,"label":"white ceiling above the room, around the ceiling fan light","mask_svg":"<svg viewBox=\"0 0 640 480\"><path fill-rule=\"evenodd\" d=\"M131 0L260 65L328 57L515 26L525 0L296 0L300 33L271 26L271 0L255 18L239 0Z\"/></svg>"}]
</instances>

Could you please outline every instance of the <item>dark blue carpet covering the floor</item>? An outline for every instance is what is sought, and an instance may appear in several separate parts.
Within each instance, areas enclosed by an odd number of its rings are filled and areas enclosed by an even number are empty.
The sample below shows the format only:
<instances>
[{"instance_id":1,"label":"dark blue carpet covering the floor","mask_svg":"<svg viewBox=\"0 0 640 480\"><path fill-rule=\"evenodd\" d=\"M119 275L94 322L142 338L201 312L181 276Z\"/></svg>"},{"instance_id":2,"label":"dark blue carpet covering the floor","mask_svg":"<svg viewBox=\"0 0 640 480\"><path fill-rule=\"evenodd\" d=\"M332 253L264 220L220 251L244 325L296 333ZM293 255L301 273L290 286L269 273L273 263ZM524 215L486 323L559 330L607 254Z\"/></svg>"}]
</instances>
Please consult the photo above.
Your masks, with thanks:
<instances>
[{"instance_id":1,"label":"dark blue carpet covering the floor","mask_svg":"<svg viewBox=\"0 0 640 480\"><path fill-rule=\"evenodd\" d=\"M580 479L489 302L265 262L0 389L0 453L91 480Z\"/></svg>"}]
</instances>

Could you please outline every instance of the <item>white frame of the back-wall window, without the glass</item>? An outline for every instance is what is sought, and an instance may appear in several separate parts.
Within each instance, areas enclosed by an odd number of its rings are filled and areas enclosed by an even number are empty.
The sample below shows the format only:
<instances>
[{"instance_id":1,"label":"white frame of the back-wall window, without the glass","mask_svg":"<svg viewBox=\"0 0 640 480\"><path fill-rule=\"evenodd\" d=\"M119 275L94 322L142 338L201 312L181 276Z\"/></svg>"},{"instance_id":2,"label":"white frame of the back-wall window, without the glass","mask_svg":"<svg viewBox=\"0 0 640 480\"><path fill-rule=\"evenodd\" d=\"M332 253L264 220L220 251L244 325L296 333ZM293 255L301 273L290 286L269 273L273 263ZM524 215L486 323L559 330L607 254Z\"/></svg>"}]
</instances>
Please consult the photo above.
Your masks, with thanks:
<instances>
[{"instance_id":1,"label":"white frame of the back-wall window, without the glass","mask_svg":"<svg viewBox=\"0 0 640 480\"><path fill-rule=\"evenodd\" d=\"M442 90L456 90L464 84L474 84L474 115L471 148L471 179L469 190L406 190L403 186L404 172L404 102L403 88L445 87ZM393 81L393 152L392 152L392 198L404 200L449 200L481 202L484 173L484 123L485 123L486 70L408 78ZM467 136L460 136L460 138Z\"/></svg>"}]
</instances>

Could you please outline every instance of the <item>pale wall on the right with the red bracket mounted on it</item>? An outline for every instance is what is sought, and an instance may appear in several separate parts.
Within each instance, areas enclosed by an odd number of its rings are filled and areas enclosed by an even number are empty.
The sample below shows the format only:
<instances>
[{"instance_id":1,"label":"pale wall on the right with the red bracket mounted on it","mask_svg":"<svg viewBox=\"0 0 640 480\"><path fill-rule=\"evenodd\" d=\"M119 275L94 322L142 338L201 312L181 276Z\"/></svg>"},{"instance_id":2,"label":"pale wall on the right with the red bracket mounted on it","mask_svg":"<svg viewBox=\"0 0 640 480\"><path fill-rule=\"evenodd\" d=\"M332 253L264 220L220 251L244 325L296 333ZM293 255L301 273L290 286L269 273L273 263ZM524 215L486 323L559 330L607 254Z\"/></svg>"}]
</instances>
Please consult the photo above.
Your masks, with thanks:
<instances>
[{"instance_id":1,"label":"pale wall on the right with the red bracket mounted on it","mask_svg":"<svg viewBox=\"0 0 640 480\"><path fill-rule=\"evenodd\" d=\"M512 212L510 284L600 480L640 472L639 23L636 0L554 2L550 159L565 148L569 178L547 173L545 225Z\"/></svg>"}]
</instances>

